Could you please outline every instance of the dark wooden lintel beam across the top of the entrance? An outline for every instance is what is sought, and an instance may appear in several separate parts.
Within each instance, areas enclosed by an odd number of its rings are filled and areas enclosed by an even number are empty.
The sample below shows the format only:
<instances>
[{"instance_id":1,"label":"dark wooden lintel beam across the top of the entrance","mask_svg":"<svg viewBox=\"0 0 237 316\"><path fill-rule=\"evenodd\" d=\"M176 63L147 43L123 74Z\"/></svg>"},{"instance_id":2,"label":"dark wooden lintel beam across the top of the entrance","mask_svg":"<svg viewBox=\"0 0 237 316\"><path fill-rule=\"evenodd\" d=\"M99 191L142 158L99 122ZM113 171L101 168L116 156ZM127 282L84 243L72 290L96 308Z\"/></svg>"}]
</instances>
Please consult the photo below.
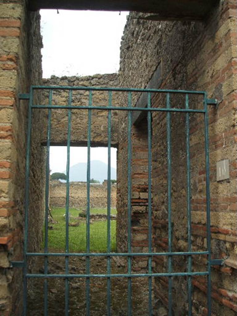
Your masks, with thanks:
<instances>
[{"instance_id":1,"label":"dark wooden lintel beam across the top of the entrance","mask_svg":"<svg viewBox=\"0 0 237 316\"><path fill-rule=\"evenodd\" d=\"M204 19L219 0L28 0L39 9L137 11L157 13L162 20Z\"/></svg>"}]
</instances>

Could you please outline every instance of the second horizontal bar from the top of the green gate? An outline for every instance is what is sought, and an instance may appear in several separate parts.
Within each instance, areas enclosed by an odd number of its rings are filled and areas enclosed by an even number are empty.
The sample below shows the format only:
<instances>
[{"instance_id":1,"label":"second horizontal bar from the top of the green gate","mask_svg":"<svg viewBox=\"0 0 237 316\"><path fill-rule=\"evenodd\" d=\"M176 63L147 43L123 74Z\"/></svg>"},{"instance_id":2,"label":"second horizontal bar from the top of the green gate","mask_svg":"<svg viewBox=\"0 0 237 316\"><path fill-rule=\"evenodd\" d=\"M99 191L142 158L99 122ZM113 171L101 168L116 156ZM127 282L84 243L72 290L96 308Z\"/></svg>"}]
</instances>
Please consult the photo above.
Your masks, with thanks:
<instances>
[{"instance_id":1,"label":"second horizontal bar from the top of the green gate","mask_svg":"<svg viewBox=\"0 0 237 316\"><path fill-rule=\"evenodd\" d=\"M176 108L159 108L159 107L124 107L124 106L73 106L73 105L32 105L34 109L74 109L74 110L122 110L122 111L161 111L161 112L194 112L194 113L205 113L204 110L193 110L193 109L176 109Z\"/></svg>"}]
</instances>

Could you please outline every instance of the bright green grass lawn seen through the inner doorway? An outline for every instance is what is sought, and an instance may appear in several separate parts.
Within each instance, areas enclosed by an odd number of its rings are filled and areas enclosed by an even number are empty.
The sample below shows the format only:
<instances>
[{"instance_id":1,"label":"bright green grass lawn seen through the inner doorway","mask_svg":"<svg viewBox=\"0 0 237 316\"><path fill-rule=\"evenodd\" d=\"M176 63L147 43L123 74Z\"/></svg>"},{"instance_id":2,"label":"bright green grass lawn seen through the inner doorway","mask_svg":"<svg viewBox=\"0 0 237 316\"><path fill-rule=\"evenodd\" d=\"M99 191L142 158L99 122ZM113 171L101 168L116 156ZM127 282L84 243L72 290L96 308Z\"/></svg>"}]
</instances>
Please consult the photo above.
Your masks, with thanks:
<instances>
[{"instance_id":1,"label":"bright green grass lawn seen through the inner doorway","mask_svg":"<svg viewBox=\"0 0 237 316\"><path fill-rule=\"evenodd\" d=\"M49 249L64 251L65 250L65 208L52 209L52 216L56 224L52 224L53 229L49 229L48 246ZM72 217L77 217L80 210L70 208L69 213ZM106 214L106 209L90 210L91 214ZM116 209L111 209L111 214L116 214ZM76 220L70 219L70 222ZM111 251L116 251L116 221L111 223ZM86 251L86 224L80 222L79 226L69 226L69 251L85 252ZM107 221L98 221L90 224L90 251L107 252Z\"/></svg>"}]
</instances>

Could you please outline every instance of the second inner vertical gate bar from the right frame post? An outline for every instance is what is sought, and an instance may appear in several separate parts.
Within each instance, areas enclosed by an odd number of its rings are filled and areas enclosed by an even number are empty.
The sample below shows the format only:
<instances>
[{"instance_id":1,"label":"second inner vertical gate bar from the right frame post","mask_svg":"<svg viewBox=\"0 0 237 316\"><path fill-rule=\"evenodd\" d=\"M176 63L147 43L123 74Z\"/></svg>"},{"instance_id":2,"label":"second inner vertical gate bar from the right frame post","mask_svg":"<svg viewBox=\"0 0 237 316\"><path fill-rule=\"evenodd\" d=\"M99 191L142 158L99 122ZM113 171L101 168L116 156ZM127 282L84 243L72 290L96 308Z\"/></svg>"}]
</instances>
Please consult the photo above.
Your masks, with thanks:
<instances>
[{"instance_id":1,"label":"second inner vertical gate bar from the right frame post","mask_svg":"<svg viewBox=\"0 0 237 316\"><path fill-rule=\"evenodd\" d=\"M170 94L166 95L166 107L170 108ZM172 205L171 205L171 118L167 112L167 162L168 162L168 252L172 252ZM168 256L168 273L172 273L172 256ZM168 279L168 315L172 316L172 276Z\"/></svg>"}]
</instances>

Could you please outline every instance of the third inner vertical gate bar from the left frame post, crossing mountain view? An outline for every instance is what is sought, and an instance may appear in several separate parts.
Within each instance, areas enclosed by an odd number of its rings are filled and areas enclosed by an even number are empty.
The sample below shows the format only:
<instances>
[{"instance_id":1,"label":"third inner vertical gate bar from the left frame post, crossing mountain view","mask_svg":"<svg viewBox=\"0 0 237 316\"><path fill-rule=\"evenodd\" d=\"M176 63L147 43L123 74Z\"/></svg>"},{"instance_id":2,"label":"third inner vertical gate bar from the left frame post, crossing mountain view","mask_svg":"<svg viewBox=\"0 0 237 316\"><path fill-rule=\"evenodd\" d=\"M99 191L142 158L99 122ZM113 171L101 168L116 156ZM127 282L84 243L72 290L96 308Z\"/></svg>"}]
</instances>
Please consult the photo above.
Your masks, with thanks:
<instances>
[{"instance_id":1,"label":"third inner vertical gate bar from the left frame post, crossing mountain view","mask_svg":"<svg viewBox=\"0 0 237 316\"><path fill-rule=\"evenodd\" d=\"M89 106L92 106L92 90L89 90ZM90 144L91 144L91 109L88 110L87 133L87 213L86 213L86 252L90 252ZM86 273L90 273L90 257L86 257ZM90 315L90 278L86 278L86 315Z\"/></svg>"}]
</instances>

